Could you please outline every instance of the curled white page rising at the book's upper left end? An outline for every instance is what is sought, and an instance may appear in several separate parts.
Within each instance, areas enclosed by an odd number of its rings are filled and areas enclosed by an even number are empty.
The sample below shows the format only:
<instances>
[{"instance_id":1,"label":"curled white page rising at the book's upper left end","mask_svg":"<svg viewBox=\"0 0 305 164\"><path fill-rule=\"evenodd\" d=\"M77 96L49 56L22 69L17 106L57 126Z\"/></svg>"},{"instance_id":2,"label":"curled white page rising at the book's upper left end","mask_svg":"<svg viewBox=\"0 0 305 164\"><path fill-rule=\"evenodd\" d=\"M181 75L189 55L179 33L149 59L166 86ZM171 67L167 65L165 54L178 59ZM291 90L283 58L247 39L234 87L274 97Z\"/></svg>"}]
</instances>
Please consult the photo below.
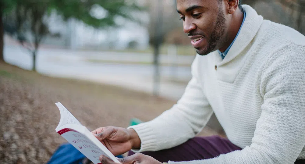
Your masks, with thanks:
<instances>
[{"instance_id":1,"label":"curled white page rising at the book's upper left end","mask_svg":"<svg viewBox=\"0 0 305 164\"><path fill-rule=\"evenodd\" d=\"M64 124L69 124L69 123L81 125L81 123L61 103L56 103L56 106L58 107L58 109L60 111L60 121L59 121L57 128L59 126L62 126ZM57 130L57 128L56 128L56 130Z\"/></svg>"}]
</instances>

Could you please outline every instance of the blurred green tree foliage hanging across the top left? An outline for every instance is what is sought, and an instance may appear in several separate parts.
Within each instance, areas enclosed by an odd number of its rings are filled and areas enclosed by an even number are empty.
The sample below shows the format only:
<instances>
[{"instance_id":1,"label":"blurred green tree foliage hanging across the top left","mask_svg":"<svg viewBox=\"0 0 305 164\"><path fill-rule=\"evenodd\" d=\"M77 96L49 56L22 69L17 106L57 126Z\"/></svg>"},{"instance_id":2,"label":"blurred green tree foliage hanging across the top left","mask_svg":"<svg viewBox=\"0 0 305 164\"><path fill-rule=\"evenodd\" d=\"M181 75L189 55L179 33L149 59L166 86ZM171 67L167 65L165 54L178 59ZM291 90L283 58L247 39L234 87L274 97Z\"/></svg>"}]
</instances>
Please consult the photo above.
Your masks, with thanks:
<instances>
[{"instance_id":1,"label":"blurred green tree foliage hanging across the top left","mask_svg":"<svg viewBox=\"0 0 305 164\"><path fill-rule=\"evenodd\" d=\"M36 10L35 14L49 14L56 11L65 20L76 18L92 27L117 26L115 19L120 16L129 20L135 20L131 13L141 11L143 8L132 0L1 0L3 13L9 13L18 6L28 11ZM106 16L97 18L92 15L94 7L103 9ZM34 16L34 15L33 15ZM135 20L137 21L137 20Z\"/></svg>"}]
</instances>

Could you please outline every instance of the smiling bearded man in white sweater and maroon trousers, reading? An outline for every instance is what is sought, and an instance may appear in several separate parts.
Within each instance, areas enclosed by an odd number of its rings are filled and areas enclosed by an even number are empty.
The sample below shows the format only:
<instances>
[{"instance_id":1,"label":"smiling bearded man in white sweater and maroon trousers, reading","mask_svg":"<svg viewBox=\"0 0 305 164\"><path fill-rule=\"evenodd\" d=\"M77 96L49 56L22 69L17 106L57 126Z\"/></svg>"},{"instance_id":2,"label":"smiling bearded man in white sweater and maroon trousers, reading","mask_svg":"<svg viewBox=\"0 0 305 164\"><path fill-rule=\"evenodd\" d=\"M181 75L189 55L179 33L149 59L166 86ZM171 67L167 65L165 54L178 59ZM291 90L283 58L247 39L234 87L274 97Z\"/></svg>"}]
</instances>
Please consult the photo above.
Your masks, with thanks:
<instances>
[{"instance_id":1,"label":"smiling bearded man in white sweater and maroon trousers, reading","mask_svg":"<svg viewBox=\"0 0 305 164\"><path fill-rule=\"evenodd\" d=\"M177 11L198 53L182 98L152 121L92 133L114 155L143 152L124 164L302 162L305 37L238 0L177 0ZM228 139L195 137L213 112Z\"/></svg>"}]
</instances>

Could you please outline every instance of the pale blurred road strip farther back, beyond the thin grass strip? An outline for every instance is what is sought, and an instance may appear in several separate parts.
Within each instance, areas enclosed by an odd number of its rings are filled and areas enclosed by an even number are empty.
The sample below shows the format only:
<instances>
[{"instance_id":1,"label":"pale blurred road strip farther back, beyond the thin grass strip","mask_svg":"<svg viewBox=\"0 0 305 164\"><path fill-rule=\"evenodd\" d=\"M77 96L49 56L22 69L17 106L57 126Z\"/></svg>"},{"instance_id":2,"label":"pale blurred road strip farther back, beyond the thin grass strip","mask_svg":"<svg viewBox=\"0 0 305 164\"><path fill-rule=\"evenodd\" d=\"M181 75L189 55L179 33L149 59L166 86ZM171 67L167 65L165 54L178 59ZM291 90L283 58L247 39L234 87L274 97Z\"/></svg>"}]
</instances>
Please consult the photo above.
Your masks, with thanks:
<instances>
[{"instance_id":1,"label":"pale blurred road strip farther back, beyond the thin grass strip","mask_svg":"<svg viewBox=\"0 0 305 164\"><path fill-rule=\"evenodd\" d=\"M22 49L20 43L8 35L4 35L4 46ZM52 60L64 60L69 62L90 62L90 63L120 63L120 64L152 64L153 54L151 53L131 53L117 51L81 50L65 49L52 45L40 45L38 53L50 56ZM30 55L26 50L27 55ZM160 54L161 65L180 65L190 67L195 58L190 55Z\"/></svg>"}]
</instances>

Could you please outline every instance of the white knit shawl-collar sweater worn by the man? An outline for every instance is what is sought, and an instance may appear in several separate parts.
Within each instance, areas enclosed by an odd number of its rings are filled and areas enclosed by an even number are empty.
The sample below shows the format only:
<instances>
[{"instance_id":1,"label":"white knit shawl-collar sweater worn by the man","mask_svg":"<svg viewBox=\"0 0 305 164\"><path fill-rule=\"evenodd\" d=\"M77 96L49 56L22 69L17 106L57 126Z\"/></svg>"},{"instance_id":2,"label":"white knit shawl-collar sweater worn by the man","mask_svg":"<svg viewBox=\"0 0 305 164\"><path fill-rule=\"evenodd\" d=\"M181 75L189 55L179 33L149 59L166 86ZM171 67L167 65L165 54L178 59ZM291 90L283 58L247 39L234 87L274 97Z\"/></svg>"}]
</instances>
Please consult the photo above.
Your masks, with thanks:
<instances>
[{"instance_id":1,"label":"white knit shawl-collar sweater worn by the man","mask_svg":"<svg viewBox=\"0 0 305 164\"><path fill-rule=\"evenodd\" d=\"M246 20L224 60L217 51L197 55L192 80L178 103L130 127L141 139L139 152L184 143L214 112L228 139L242 150L169 163L290 164L305 159L305 37L263 20L248 5L243 8Z\"/></svg>"}]
</instances>

